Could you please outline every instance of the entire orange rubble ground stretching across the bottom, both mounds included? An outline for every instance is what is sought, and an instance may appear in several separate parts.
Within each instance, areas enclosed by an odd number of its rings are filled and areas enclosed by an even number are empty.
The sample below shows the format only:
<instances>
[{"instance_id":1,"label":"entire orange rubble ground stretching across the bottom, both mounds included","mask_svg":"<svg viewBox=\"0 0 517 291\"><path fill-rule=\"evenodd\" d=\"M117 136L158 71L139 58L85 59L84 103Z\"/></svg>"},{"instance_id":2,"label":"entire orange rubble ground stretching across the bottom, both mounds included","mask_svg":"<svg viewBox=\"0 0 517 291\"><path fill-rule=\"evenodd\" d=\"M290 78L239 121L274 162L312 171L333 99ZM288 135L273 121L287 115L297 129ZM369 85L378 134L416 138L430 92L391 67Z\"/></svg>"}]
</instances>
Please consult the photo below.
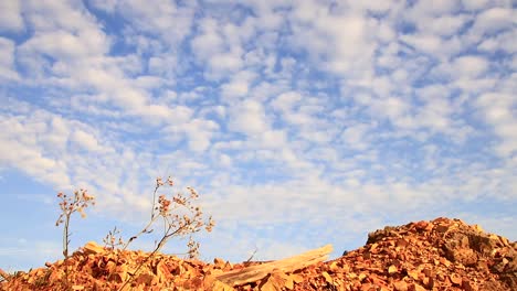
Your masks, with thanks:
<instances>
[{"instance_id":1,"label":"entire orange rubble ground stretching across the bottom, both mounds included","mask_svg":"<svg viewBox=\"0 0 517 291\"><path fill-rule=\"evenodd\" d=\"M517 290L517 242L460 219L386 227L338 259L308 257L286 260L288 268L283 260L205 263L88 242L45 268L0 270L0 290L118 290L126 281L124 290Z\"/></svg>"}]
</instances>

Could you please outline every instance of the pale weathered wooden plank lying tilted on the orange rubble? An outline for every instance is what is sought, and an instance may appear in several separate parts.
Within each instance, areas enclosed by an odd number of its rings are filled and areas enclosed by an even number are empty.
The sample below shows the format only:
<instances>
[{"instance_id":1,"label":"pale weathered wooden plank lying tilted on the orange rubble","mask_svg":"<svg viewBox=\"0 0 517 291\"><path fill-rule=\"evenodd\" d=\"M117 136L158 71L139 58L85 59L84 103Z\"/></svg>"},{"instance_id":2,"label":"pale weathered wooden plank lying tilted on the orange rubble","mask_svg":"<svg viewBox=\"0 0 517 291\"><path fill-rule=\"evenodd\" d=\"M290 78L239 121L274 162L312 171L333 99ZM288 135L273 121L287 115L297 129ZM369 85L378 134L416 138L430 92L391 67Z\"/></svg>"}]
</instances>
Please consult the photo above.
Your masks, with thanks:
<instances>
[{"instance_id":1,"label":"pale weathered wooden plank lying tilted on the orange rubble","mask_svg":"<svg viewBox=\"0 0 517 291\"><path fill-rule=\"evenodd\" d=\"M310 265L325 261L331 251L333 245L327 245L325 247L313 249L291 258L271 261L257 266L251 266L241 270L228 271L218 274L215 280L219 280L229 285L241 285L261 280L268 273L272 273L274 270L283 271L285 273L294 272Z\"/></svg>"}]
</instances>

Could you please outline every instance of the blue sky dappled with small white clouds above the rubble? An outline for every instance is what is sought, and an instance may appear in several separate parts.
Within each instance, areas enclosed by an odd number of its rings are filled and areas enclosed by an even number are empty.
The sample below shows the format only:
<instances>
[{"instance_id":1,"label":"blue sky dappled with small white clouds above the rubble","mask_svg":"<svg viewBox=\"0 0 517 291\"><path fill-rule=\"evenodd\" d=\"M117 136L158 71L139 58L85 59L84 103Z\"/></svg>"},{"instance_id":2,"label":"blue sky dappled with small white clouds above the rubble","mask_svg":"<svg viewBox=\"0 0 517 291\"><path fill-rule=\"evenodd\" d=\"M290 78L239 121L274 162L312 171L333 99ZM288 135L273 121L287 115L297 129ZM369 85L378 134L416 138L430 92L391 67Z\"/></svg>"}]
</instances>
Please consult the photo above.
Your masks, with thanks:
<instances>
[{"instance_id":1,"label":"blue sky dappled with small white clouds above the rubble","mask_svg":"<svg viewBox=\"0 0 517 291\"><path fill-rule=\"evenodd\" d=\"M204 260L336 257L437 216L516 240L516 19L504 0L0 1L0 268L61 258L60 191L97 200L73 249L131 236L160 175L213 215Z\"/></svg>"}]
</instances>

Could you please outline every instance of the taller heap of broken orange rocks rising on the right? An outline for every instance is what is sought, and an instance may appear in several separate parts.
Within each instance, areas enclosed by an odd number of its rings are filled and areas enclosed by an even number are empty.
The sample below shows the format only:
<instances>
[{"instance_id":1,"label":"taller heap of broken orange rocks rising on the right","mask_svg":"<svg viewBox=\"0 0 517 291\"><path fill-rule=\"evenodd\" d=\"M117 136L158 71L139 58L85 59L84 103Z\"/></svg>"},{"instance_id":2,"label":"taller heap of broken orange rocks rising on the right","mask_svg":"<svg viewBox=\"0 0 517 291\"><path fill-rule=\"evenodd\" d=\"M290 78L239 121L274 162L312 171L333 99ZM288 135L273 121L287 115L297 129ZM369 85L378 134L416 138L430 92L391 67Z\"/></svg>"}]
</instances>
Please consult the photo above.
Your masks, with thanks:
<instances>
[{"instance_id":1,"label":"taller heap of broken orange rocks rising on the right","mask_svg":"<svg viewBox=\"0 0 517 291\"><path fill-rule=\"evenodd\" d=\"M437 218L371 233L366 246L299 274L296 290L517 290L517 242Z\"/></svg>"}]
</instances>

